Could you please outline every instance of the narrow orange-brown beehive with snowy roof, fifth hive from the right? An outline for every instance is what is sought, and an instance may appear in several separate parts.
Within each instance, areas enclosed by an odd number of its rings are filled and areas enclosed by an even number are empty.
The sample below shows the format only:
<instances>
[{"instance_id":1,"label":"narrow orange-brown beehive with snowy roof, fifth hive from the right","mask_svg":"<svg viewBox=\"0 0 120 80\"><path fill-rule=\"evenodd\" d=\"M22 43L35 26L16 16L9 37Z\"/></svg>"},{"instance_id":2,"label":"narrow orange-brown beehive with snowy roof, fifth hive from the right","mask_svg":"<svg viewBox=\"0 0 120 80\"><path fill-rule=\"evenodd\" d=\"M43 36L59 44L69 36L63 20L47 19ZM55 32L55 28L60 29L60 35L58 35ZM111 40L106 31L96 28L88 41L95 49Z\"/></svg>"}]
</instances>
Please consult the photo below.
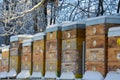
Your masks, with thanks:
<instances>
[{"instance_id":1,"label":"narrow orange-brown beehive with snowy roof, fifth hive from the right","mask_svg":"<svg viewBox=\"0 0 120 80\"><path fill-rule=\"evenodd\" d=\"M33 73L45 73L45 33L35 34L33 37ZM34 76L32 76L34 77Z\"/></svg>"}]
</instances>

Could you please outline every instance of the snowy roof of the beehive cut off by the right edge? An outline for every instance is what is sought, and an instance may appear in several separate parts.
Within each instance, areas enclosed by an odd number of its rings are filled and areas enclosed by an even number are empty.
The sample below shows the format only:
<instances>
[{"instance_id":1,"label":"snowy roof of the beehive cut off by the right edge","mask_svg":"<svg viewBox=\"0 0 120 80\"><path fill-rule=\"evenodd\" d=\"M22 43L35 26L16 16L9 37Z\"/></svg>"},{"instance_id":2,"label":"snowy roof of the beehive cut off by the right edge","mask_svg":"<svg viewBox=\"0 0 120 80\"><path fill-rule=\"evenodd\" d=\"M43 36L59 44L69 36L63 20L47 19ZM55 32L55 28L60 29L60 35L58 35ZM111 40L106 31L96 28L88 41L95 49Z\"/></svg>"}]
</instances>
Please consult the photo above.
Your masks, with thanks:
<instances>
[{"instance_id":1,"label":"snowy roof of the beehive cut off by the right edge","mask_svg":"<svg viewBox=\"0 0 120 80\"><path fill-rule=\"evenodd\" d=\"M108 31L108 37L120 36L120 27L112 27Z\"/></svg>"}]
</instances>

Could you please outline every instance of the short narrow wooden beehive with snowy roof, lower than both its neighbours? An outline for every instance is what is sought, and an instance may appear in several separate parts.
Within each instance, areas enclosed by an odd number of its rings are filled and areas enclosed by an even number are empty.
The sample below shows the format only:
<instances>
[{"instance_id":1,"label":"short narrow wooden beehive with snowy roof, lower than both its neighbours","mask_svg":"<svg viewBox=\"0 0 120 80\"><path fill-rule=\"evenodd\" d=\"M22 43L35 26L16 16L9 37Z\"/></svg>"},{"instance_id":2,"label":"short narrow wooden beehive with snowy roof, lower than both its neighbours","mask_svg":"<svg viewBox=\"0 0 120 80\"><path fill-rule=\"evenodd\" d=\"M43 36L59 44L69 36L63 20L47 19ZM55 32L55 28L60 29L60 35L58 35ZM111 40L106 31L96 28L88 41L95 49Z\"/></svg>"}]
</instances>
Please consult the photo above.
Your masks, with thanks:
<instances>
[{"instance_id":1,"label":"short narrow wooden beehive with snowy roof, lower than both its neighbours","mask_svg":"<svg viewBox=\"0 0 120 80\"><path fill-rule=\"evenodd\" d=\"M29 70L32 72L33 64L33 39L23 40L22 44L22 55L21 55L21 70Z\"/></svg>"}]
</instances>

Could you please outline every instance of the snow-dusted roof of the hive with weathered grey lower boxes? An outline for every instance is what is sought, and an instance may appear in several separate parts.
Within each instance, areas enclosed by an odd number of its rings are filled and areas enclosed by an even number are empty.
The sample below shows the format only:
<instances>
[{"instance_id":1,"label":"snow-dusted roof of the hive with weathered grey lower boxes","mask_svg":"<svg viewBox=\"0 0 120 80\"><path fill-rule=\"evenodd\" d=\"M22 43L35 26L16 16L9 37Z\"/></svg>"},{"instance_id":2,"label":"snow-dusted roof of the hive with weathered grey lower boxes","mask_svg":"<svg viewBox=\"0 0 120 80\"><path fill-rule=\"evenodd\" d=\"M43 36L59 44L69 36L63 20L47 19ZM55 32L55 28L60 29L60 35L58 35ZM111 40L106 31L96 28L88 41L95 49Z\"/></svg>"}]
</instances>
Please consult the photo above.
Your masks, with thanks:
<instances>
[{"instance_id":1,"label":"snow-dusted roof of the hive with weathered grey lower boxes","mask_svg":"<svg viewBox=\"0 0 120 80\"><path fill-rule=\"evenodd\" d=\"M85 28L85 23L81 23L81 22L63 22L62 24L62 31L64 30L70 30L70 29L74 29L74 28Z\"/></svg>"}]
</instances>

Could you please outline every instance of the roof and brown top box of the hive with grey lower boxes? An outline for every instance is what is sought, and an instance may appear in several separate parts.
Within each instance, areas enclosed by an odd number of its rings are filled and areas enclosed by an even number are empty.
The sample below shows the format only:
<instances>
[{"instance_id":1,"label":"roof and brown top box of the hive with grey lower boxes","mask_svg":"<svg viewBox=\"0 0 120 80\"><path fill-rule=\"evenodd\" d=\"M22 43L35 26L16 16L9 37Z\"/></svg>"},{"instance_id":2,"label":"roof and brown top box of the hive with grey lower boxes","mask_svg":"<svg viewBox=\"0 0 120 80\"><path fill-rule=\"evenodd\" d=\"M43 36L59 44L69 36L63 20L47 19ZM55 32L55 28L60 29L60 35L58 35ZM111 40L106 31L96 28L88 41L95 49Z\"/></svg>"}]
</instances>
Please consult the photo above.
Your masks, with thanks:
<instances>
[{"instance_id":1,"label":"roof and brown top box of the hive with grey lower boxes","mask_svg":"<svg viewBox=\"0 0 120 80\"><path fill-rule=\"evenodd\" d=\"M62 40L85 38L85 24L71 22L62 24Z\"/></svg>"}]
</instances>

